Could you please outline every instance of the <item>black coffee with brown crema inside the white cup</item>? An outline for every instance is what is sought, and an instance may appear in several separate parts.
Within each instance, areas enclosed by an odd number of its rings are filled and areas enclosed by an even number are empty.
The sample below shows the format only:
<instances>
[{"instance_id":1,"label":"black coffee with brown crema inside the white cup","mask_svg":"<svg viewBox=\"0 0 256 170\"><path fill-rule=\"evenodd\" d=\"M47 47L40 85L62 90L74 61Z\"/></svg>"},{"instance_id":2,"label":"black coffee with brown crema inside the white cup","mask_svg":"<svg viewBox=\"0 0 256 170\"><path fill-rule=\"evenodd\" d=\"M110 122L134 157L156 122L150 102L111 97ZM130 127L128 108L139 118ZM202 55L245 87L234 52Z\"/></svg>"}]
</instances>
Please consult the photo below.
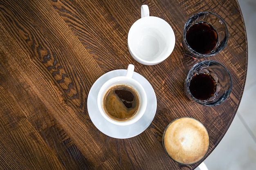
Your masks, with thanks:
<instances>
[{"instance_id":1,"label":"black coffee with brown crema inside the white cup","mask_svg":"<svg viewBox=\"0 0 256 170\"><path fill-rule=\"evenodd\" d=\"M126 121L136 114L139 108L139 96L130 86L116 85L104 96L103 108L110 118Z\"/></svg>"}]
</instances>

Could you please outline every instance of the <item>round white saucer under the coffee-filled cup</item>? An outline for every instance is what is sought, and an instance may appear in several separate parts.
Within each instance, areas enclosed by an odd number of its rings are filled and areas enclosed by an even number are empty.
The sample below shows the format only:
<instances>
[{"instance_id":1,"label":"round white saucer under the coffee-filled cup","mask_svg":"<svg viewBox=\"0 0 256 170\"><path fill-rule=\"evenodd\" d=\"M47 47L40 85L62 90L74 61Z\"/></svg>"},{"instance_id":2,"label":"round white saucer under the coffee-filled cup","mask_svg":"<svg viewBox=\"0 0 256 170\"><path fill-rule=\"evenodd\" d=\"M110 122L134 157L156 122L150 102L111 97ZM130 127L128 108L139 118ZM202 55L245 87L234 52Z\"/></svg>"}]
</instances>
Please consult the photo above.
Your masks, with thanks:
<instances>
[{"instance_id":1,"label":"round white saucer under the coffee-filled cup","mask_svg":"<svg viewBox=\"0 0 256 170\"><path fill-rule=\"evenodd\" d=\"M97 106L99 89L112 77L125 76L126 71L127 70L123 69L113 70L99 77L99 79L97 79L92 85L87 100L88 113L94 126L96 126L96 128L98 128L105 135L117 139L135 137L144 132L144 130L146 130L146 128L148 128L153 121L157 110L157 98L153 87L145 77L134 72L132 78L136 79L145 88L147 94L148 105L145 114L137 122L127 126L115 125L103 118Z\"/></svg>"}]
</instances>

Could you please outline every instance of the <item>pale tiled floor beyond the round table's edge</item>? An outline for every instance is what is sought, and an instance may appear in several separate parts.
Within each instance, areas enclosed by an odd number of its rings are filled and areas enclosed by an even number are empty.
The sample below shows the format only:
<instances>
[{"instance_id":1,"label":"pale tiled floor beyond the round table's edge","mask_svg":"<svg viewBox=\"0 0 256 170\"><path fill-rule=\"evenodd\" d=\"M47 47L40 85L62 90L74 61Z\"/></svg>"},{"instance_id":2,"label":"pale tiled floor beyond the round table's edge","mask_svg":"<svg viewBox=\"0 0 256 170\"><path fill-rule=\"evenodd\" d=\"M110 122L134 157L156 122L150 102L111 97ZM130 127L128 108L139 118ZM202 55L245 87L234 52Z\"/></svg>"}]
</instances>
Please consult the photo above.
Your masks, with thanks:
<instances>
[{"instance_id":1,"label":"pale tiled floor beyond the round table's edge","mask_svg":"<svg viewBox=\"0 0 256 170\"><path fill-rule=\"evenodd\" d=\"M209 170L256 170L256 0L238 2L247 31L247 79L234 121L204 161Z\"/></svg>"}]
</instances>

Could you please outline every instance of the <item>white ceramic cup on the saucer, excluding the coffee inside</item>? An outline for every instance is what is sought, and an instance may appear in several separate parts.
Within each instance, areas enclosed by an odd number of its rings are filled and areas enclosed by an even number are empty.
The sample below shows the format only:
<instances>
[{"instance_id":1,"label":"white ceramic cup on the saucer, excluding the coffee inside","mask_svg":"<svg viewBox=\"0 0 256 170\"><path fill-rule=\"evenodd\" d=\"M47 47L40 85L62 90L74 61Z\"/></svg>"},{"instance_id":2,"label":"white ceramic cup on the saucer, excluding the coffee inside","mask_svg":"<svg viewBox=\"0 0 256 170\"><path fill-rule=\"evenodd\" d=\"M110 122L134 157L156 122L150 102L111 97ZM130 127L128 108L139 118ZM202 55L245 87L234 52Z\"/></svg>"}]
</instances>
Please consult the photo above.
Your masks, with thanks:
<instances>
[{"instance_id":1,"label":"white ceramic cup on the saucer, excluding the coffee inside","mask_svg":"<svg viewBox=\"0 0 256 170\"><path fill-rule=\"evenodd\" d=\"M137 80L132 78L132 75L134 72L134 67L135 67L134 65L129 64L128 68L127 68L126 76L118 76L118 77L109 79L107 82L105 82L103 84L103 86L101 86L101 88L99 90L99 94L97 97L97 104L98 104L99 111L100 111L101 115L112 124L121 125L121 126L133 124L136 121L138 121L144 115L144 113L146 111L146 106L147 106L146 92L145 92L144 88L141 86L141 84L139 82L137 82ZM118 121L116 119L110 118L107 115L107 113L105 112L105 109L103 106L104 97L110 88L112 88L113 86L117 86L117 85L130 86L138 94L139 108L137 109L137 112L131 119Z\"/></svg>"}]
</instances>

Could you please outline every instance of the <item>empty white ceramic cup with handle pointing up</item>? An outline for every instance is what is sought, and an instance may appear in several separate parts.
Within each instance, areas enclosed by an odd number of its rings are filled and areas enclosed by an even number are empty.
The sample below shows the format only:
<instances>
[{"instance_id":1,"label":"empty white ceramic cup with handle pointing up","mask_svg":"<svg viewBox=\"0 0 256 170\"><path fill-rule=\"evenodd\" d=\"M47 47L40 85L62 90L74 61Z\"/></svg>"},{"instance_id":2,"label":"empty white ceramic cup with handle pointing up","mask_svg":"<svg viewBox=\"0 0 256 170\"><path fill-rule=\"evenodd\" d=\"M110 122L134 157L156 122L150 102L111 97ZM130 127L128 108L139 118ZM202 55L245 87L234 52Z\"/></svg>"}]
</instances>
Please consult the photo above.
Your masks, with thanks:
<instances>
[{"instance_id":1,"label":"empty white ceramic cup with handle pointing up","mask_svg":"<svg viewBox=\"0 0 256 170\"><path fill-rule=\"evenodd\" d=\"M128 49L132 57L144 65L166 60L175 46L172 27L162 18L149 16L148 5L141 6L141 18L128 32Z\"/></svg>"}]
</instances>

